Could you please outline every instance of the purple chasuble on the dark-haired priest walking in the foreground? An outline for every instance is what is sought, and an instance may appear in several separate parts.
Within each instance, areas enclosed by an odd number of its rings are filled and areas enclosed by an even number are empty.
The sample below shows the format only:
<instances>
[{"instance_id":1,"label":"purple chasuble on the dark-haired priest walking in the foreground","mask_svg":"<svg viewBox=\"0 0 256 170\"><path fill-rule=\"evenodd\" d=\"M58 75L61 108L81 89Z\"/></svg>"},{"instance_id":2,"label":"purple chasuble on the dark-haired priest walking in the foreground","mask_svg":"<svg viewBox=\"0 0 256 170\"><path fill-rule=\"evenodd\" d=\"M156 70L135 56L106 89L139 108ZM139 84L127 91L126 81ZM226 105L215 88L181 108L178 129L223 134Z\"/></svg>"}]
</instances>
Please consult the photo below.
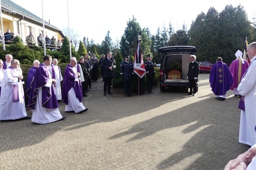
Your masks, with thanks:
<instances>
[{"instance_id":1,"label":"purple chasuble on the dark-haired priest walking in the foreground","mask_svg":"<svg viewBox=\"0 0 256 170\"><path fill-rule=\"evenodd\" d=\"M34 109L39 88L42 88L42 107L47 109L55 109L59 107L53 85L51 87L45 87L51 76L49 75L50 71L47 66L43 63L39 64L31 83L31 93L28 102L29 108Z\"/></svg>"}]
</instances>

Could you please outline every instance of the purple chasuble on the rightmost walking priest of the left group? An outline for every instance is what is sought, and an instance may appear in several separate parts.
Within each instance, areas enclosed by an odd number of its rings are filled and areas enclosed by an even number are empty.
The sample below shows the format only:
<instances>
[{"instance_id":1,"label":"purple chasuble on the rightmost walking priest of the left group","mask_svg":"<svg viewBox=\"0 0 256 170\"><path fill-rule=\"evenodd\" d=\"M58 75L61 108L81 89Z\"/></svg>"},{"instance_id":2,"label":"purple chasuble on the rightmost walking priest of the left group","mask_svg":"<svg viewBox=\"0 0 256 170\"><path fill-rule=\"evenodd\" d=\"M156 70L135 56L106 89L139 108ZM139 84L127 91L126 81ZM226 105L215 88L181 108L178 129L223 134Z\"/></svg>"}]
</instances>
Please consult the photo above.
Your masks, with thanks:
<instances>
[{"instance_id":1,"label":"purple chasuble on the rightmost walking priest of the left group","mask_svg":"<svg viewBox=\"0 0 256 170\"><path fill-rule=\"evenodd\" d=\"M80 102L83 101L82 84L80 79L75 81L76 74L72 68L70 64L67 64L63 77L62 99L66 105L68 104L67 94L72 87L75 91L76 98L78 98Z\"/></svg>"}]
</instances>

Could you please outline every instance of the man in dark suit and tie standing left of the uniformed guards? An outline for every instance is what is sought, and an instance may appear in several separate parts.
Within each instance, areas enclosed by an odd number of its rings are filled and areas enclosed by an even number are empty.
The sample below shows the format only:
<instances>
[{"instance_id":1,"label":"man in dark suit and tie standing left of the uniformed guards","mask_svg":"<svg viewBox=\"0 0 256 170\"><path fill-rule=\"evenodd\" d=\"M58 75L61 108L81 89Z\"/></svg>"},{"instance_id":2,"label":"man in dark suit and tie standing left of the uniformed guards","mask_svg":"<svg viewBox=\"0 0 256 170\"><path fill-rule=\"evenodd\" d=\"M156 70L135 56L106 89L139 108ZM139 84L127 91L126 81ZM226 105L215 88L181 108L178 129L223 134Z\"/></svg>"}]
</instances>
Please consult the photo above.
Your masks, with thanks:
<instances>
[{"instance_id":1,"label":"man in dark suit and tie standing left of the uniformed guards","mask_svg":"<svg viewBox=\"0 0 256 170\"><path fill-rule=\"evenodd\" d=\"M116 68L116 61L112 58L112 52L107 52L107 57L102 60L101 67L104 69L104 96L113 94L110 91L112 78L115 76L114 69Z\"/></svg>"}]
</instances>

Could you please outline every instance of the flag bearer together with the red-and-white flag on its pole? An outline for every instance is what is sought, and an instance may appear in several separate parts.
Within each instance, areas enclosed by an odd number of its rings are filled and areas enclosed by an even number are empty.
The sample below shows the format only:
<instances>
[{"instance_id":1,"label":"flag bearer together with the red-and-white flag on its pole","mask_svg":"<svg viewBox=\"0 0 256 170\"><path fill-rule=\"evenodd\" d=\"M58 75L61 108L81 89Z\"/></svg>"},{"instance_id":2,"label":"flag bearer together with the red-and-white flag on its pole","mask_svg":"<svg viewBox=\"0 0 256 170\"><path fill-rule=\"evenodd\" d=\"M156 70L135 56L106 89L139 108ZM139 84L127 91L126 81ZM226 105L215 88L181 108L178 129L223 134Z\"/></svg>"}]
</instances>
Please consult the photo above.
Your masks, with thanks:
<instances>
[{"instance_id":1,"label":"flag bearer together with the red-and-white flag on its pole","mask_svg":"<svg viewBox=\"0 0 256 170\"><path fill-rule=\"evenodd\" d=\"M144 75L146 73L145 65L143 62L141 48L140 48L140 35L138 36L138 47L136 49L133 61L133 72L135 73L135 81L136 81L136 92L138 95L144 95L143 93L143 81Z\"/></svg>"}]
</instances>

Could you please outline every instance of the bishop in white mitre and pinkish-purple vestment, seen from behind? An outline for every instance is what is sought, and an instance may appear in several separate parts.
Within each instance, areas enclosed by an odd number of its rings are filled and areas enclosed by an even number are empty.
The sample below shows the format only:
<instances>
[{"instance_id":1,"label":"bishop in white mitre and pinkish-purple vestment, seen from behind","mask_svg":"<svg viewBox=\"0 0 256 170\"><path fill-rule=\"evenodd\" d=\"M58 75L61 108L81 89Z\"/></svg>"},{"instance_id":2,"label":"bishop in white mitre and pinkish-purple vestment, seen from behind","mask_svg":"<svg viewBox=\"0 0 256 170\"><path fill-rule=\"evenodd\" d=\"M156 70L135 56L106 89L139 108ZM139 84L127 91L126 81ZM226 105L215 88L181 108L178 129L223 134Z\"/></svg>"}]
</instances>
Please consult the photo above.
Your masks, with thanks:
<instances>
[{"instance_id":1,"label":"bishop in white mitre and pinkish-purple vestment, seen from behind","mask_svg":"<svg viewBox=\"0 0 256 170\"><path fill-rule=\"evenodd\" d=\"M246 72L249 64L247 60L243 59L243 53L240 50L237 50L235 53L236 59L232 61L229 66L230 73L233 77L233 85L231 86L230 90L233 90L235 96L241 97L237 91L237 86L242 80L244 73Z\"/></svg>"}]
</instances>

